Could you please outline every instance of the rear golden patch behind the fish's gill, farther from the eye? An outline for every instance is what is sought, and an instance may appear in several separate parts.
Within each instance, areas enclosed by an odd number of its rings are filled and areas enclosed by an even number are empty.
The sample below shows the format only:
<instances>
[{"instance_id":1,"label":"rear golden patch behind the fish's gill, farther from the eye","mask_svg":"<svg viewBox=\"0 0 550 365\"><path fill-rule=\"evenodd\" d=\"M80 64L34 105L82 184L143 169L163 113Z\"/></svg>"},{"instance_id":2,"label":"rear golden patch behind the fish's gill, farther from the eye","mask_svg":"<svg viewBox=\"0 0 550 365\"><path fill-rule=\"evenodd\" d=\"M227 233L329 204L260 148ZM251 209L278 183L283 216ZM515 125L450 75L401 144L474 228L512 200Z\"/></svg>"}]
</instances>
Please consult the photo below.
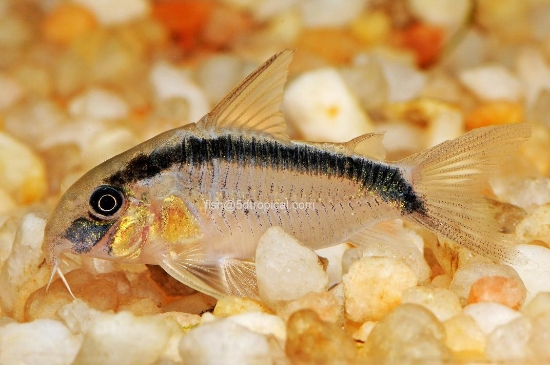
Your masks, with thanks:
<instances>
[{"instance_id":1,"label":"rear golden patch behind the fish's gill, farther from the eye","mask_svg":"<svg viewBox=\"0 0 550 365\"><path fill-rule=\"evenodd\" d=\"M182 243L200 236L200 226L182 199L170 195L164 198L160 209L158 230L166 243Z\"/></svg>"}]
</instances>

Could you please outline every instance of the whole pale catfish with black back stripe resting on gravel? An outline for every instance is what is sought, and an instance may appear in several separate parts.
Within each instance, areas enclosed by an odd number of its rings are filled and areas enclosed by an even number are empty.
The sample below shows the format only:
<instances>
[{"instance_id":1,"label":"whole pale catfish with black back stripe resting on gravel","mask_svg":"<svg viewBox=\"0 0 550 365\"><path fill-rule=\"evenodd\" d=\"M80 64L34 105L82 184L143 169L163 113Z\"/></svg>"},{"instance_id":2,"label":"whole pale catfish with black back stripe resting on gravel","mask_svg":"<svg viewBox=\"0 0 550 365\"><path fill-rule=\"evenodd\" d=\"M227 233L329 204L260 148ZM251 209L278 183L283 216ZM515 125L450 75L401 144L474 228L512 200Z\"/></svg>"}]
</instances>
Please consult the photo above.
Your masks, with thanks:
<instances>
[{"instance_id":1,"label":"whole pale catfish with black back stripe resting on gravel","mask_svg":"<svg viewBox=\"0 0 550 365\"><path fill-rule=\"evenodd\" d=\"M215 298L257 298L254 257L268 228L280 226L317 250L361 246L394 219L497 262L521 260L483 190L530 137L528 124L478 128L395 162L385 161L382 134L291 140L282 101L292 56L271 57L196 123L76 181L45 228L50 283L57 273L70 292L60 268L73 254L160 265Z\"/></svg>"}]
</instances>

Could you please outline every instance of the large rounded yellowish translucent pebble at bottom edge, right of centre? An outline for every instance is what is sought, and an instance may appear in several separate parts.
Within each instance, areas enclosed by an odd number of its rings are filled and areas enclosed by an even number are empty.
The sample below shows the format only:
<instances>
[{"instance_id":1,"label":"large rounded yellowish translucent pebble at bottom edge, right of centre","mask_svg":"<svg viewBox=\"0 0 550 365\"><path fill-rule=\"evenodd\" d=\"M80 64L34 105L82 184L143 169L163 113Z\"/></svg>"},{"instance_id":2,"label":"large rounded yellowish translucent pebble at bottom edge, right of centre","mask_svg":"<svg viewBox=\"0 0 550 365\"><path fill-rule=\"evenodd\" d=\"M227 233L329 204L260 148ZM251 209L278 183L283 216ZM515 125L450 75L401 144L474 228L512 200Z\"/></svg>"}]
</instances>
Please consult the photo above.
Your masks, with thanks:
<instances>
[{"instance_id":1,"label":"large rounded yellowish translucent pebble at bottom edge, right of centre","mask_svg":"<svg viewBox=\"0 0 550 365\"><path fill-rule=\"evenodd\" d=\"M366 344L377 364L440 364L452 359L444 340L445 328L429 310L403 304L374 326Z\"/></svg>"}]
</instances>

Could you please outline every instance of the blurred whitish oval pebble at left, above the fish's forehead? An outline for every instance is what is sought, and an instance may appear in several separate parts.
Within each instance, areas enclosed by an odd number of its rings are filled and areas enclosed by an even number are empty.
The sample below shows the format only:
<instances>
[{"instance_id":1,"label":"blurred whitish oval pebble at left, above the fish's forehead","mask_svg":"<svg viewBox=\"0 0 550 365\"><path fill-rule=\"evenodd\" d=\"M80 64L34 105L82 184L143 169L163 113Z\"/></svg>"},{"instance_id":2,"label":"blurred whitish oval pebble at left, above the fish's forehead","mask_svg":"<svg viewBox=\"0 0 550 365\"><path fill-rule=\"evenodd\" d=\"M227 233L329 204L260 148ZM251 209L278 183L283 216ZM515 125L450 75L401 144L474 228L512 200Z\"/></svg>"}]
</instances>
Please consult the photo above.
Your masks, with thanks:
<instances>
[{"instance_id":1,"label":"blurred whitish oval pebble at left, above the fish's forehead","mask_svg":"<svg viewBox=\"0 0 550 365\"><path fill-rule=\"evenodd\" d=\"M71 100L68 110L73 117L107 120L123 119L129 113L129 107L121 97L102 89L90 89L78 95Z\"/></svg>"}]
</instances>

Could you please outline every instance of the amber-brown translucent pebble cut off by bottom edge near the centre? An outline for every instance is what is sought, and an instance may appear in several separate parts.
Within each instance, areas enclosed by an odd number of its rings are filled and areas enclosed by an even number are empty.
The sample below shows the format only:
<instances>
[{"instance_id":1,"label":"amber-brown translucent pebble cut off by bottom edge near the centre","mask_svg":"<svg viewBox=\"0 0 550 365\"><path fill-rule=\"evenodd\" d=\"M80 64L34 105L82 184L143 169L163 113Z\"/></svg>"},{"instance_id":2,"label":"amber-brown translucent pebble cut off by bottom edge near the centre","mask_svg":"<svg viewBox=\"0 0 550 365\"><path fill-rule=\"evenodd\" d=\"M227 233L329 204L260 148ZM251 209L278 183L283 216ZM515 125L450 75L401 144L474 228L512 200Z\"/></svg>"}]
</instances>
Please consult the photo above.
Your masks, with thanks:
<instances>
[{"instance_id":1,"label":"amber-brown translucent pebble cut off by bottom edge near the centre","mask_svg":"<svg viewBox=\"0 0 550 365\"><path fill-rule=\"evenodd\" d=\"M356 355L351 337L308 309L294 313L288 320L285 352L297 365L352 364Z\"/></svg>"}]
</instances>

